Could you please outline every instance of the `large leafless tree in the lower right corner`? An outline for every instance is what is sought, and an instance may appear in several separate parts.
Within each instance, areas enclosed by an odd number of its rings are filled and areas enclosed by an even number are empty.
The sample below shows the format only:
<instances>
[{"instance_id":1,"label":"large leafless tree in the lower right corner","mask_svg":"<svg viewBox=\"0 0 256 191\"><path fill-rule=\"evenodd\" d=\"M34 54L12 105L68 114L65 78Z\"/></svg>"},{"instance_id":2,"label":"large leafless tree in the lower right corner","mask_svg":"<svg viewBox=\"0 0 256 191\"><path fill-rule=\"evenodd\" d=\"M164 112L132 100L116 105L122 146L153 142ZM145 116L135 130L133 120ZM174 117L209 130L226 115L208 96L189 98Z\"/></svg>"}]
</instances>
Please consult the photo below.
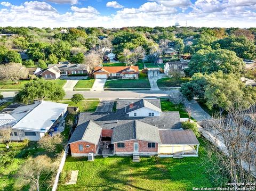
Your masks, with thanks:
<instances>
[{"instance_id":1,"label":"large leafless tree in the lower right corner","mask_svg":"<svg viewBox=\"0 0 256 191\"><path fill-rule=\"evenodd\" d=\"M222 153L215 147L207 151L209 155L217 156L232 182L254 182L252 174L256 176L256 111L235 108L230 108L226 116L219 114L214 120L202 123L202 127L218 139L218 142L215 140L215 146L219 145Z\"/></svg>"}]
</instances>

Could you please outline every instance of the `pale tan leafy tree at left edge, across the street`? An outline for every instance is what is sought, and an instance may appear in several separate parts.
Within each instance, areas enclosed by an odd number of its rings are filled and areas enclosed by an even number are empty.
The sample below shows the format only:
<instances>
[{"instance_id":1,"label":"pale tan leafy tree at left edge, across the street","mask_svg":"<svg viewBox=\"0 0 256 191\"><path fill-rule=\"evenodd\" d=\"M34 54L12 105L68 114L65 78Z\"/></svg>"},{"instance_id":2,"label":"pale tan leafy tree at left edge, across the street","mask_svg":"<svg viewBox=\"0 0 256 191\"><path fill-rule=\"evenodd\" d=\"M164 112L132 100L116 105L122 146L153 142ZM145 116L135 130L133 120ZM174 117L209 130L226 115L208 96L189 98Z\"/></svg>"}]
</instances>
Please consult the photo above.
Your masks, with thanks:
<instances>
[{"instance_id":1,"label":"pale tan leafy tree at left edge, across the street","mask_svg":"<svg viewBox=\"0 0 256 191\"><path fill-rule=\"evenodd\" d=\"M28 77L28 69L20 63L8 63L0 65L0 79L12 80L18 84L18 80Z\"/></svg>"}]
</instances>

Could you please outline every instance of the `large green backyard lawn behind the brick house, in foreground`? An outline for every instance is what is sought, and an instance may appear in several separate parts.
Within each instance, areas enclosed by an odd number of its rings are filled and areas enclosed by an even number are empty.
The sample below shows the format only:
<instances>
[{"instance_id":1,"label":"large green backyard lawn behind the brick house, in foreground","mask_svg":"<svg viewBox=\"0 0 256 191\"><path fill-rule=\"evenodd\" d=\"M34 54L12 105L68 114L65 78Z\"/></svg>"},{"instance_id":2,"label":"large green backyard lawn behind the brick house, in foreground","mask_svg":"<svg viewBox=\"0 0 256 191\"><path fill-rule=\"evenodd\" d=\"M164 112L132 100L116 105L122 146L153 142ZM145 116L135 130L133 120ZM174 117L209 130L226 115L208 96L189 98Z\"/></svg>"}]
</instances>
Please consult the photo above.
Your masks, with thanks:
<instances>
[{"instance_id":1,"label":"large green backyard lawn behind the brick house, in foreground","mask_svg":"<svg viewBox=\"0 0 256 191\"><path fill-rule=\"evenodd\" d=\"M132 157L67 157L63 171L79 170L75 185L59 184L57 190L192 190L193 187L225 187L226 179L214 181L206 169L214 164L207 162L204 139L199 138L199 157L183 159L141 157L138 163ZM205 164L206 162L206 164Z\"/></svg>"}]
</instances>

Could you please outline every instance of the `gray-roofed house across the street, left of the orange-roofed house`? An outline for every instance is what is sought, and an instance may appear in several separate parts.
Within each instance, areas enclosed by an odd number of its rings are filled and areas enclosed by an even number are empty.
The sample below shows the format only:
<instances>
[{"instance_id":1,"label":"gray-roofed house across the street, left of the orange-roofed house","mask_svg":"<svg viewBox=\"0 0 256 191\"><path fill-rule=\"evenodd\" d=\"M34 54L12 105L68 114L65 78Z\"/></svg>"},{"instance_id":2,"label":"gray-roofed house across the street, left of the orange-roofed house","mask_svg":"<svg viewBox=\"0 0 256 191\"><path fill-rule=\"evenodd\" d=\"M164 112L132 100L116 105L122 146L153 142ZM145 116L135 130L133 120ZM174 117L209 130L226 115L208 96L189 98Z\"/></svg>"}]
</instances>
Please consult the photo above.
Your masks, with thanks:
<instances>
[{"instance_id":1,"label":"gray-roofed house across the street, left of the orange-roofed house","mask_svg":"<svg viewBox=\"0 0 256 191\"><path fill-rule=\"evenodd\" d=\"M58 79L60 76L86 75L87 73L87 64L60 62L59 64L49 64L48 69L42 73L42 77L45 79Z\"/></svg>"}]
</instances>

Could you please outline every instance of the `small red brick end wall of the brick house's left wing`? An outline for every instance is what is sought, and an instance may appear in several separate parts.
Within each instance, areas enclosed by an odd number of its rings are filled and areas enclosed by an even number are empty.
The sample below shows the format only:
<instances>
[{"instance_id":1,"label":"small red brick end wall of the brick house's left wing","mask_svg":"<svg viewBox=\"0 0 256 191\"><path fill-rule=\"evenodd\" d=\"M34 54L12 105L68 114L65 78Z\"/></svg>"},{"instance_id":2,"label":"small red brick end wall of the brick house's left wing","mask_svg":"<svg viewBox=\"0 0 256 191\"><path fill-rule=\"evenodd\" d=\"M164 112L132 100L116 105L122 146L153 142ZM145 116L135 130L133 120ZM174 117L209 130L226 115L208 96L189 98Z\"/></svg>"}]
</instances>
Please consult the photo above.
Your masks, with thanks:
<instances>
[{"instance_id":1,"label":"small red brick end wall of the brick house's left wing","mask_svg":"<svg viewBox=\"0 0 256 191\"><path fill-rule=\"evenodd\" d=\"M79 151L79 146L83 145L83 151ZM90 148L86 148L86 145L90 145ZM70 150L72 156L88 156L88 153L93 152L97 155L98 146L87 142L75 142L70 144Z\"/></svg>"}]
</instances>

